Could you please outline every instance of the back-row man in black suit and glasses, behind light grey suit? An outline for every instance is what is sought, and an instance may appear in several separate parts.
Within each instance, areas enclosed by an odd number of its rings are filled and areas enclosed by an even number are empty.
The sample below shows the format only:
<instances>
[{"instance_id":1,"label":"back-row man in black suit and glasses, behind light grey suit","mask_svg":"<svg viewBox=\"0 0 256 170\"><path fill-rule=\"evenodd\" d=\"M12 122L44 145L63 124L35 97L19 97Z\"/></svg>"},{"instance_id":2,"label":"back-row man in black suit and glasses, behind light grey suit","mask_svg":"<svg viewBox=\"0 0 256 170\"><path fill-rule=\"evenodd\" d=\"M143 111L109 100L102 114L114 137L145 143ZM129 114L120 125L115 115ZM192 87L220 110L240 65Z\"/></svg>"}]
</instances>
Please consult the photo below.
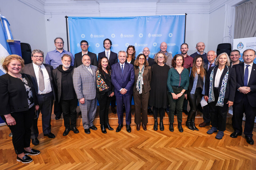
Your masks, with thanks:
<instances>
[{"instance_id":1,"label":"back-row man in black suit and glasses, behind light grey suit","mask_svg":"<svg viewBox=\"0 0 256 170\"><path fill-rule=\"evenodd\" d=\"M94 65L94 66L98 67L98 61L97 61L96 54L91 53L91 52L88 51L88 47L89 47L88 42L86 40L82 40L80 42L80 46L81 46L82 51L80 53L75 54L74 67L78 67L81 64L83 64L82 63L83 54L88 54L91 58L91 65Z\"/></svg>"}]
</instances>

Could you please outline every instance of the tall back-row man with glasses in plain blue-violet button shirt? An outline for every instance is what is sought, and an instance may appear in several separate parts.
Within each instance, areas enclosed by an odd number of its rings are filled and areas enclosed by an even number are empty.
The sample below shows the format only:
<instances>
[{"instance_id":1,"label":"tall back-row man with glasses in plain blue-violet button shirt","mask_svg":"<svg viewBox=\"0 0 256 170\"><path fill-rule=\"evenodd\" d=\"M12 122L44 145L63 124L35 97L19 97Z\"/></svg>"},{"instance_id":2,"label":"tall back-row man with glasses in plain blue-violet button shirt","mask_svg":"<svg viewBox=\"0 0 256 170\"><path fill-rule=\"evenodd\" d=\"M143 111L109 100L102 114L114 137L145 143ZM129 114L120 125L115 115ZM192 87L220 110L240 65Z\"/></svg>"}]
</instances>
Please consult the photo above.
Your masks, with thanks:
<instances>
[{"instance_id":1,"label":"tall back-row man with glasses in plain blue-violet button shirt","mask_svg":"<svg viewBox=\"0 0 256 170\"><path fill-rule=\"evenodd\" d=\"M46 54L45 63L53 66L53 68L56 69L59 65L62 65L61 57L63 54L68 54L72 58L71 66L74 66L74 56L70 52L63 49L63 39L61 37L56 37L54 39L54 45L56 49Z\"/></svg>"}]
</instances>

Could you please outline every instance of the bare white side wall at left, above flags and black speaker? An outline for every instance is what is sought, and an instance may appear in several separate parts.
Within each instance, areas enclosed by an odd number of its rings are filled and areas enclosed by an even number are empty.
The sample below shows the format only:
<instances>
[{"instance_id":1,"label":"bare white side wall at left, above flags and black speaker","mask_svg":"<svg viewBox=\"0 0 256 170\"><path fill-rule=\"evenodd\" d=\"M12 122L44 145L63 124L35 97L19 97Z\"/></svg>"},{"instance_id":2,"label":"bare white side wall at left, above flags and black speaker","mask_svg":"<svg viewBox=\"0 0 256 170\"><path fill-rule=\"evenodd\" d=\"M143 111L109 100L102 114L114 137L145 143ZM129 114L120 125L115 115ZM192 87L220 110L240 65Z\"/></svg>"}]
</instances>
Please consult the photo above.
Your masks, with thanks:
<instances>
[{"instance_id":1,"label":"bare white side wall at left, above flags and black speaker","mask_svg":"<svg viewBox=\"0 0 256 170\"><path fill-rule=\"evenodd\" d=\"M17 0L1 2L0 12L9 21L14 40L47 52L44 14Z\"/></svg>"}]
</instances>

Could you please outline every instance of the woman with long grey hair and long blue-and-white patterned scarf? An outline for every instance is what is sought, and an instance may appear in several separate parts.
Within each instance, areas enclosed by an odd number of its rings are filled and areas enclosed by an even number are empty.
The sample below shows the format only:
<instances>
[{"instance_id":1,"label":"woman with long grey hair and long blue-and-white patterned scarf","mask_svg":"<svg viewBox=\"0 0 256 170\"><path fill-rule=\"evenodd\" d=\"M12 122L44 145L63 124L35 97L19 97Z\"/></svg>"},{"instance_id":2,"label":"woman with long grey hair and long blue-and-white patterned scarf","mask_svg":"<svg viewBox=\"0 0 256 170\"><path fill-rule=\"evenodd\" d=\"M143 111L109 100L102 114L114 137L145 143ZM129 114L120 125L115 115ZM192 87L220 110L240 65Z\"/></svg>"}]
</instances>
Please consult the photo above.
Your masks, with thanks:
<instances>
[{"instance_id":1,"label":"woman with long grey hair and long blue-and-white patterned scarf","mask_svg":"<svg viewBox=\"0 0 256 170\"><path fill-rule=\"evenodd\" d=\"M235 69L228 67L230 61L227 53L219 54L215 65L209 68L205 82L204 99L209 100L212 125L207 134L219 130L215 138L222 139L226 130L227 111L234 102L236 75Z\"/></svg>"}]
</instances>

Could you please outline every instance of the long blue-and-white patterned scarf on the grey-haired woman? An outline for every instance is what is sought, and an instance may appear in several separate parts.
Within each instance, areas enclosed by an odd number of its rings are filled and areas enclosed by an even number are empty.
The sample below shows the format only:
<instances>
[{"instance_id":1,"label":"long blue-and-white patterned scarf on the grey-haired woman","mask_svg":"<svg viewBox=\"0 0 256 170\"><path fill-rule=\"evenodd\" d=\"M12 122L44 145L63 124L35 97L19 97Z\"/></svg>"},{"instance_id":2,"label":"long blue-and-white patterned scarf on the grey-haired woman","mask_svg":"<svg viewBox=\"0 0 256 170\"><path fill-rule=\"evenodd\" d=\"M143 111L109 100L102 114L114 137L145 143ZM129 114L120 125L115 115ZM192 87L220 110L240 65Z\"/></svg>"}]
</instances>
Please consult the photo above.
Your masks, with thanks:
<instances>
[{"instance_id":1,"label":"long blue-and-white patterned scarf on the grey-haired woman","mask_svg":"<svg viewBox=\"0 0 256 170\"><path fill-rule=\"evenodd\" d=\"M215 67L218 67L218 65ZM227 78L229 77L229 67L228 66L226 66L226 67L227 67L227 73L225 74L225 76L222 80L221 89L219 92L219 99L216 103L216 106L221 106L221 107L223 107L223 101L224 101L226 86L227 86ZM215 101L214 94L213 94L213 70L211 71L211 75L210 75L209 102Z\"/></svg>"}]
</instances>

